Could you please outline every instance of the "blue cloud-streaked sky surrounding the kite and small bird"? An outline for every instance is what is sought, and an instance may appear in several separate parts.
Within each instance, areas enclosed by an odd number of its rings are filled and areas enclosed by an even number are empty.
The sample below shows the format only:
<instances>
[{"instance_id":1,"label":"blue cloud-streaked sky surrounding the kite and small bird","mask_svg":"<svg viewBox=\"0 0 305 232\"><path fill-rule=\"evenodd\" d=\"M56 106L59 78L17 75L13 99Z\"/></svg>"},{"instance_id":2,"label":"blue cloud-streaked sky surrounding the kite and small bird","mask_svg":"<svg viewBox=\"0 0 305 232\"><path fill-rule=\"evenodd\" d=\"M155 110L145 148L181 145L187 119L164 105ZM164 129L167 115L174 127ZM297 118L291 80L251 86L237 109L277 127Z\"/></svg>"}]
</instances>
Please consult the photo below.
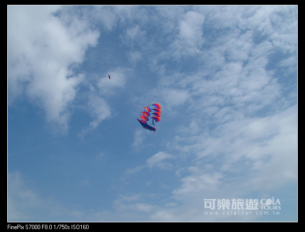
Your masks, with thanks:
<instances>
[{"instance_id":1,"label":"blue cloud-streaked sky surrounding the kite and small bird","mask_svg":"<svg viewBox=\"0 0 305 232\"><path fill-rule=\"evenodd\" d=\"M297 221L297 10L7 6L7 220Z\"/></svg>"}]
</instances>

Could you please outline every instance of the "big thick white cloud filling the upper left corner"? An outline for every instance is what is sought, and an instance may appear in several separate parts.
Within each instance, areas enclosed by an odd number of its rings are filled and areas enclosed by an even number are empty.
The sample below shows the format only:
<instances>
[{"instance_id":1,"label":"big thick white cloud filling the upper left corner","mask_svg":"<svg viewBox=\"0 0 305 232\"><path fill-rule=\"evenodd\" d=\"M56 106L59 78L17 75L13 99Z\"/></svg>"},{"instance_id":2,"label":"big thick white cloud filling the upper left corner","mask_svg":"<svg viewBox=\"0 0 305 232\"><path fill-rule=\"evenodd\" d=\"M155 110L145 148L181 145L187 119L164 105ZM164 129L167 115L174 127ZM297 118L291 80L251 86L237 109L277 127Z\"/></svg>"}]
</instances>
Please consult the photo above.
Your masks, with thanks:
<instances>
[{"instance_id":1,"label":"big thick white cloud filling the upper left corner","mask_svg":"<svg viewBox=\"0 0 305 232\"><path fill-rule=\"evenodd\" d=\"M8 6L9 102L25 93L46 111L47 121L67 131L69 105L83 76L72 67L83 61L99 33L89 22L56 17L53 6Z\"/></svg>"}]
</instances>

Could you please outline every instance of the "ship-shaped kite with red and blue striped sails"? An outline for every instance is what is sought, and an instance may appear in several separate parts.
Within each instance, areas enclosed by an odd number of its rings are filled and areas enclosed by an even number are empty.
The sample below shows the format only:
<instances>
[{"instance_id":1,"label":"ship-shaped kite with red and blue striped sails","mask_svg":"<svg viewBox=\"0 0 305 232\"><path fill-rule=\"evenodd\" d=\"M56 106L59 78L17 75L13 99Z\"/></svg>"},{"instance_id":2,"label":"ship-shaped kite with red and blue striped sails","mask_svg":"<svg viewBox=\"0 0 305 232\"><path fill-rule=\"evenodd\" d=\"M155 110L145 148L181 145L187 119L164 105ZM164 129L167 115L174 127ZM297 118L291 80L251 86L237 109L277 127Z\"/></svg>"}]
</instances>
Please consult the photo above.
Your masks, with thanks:
<instances>
[{"instance_id":1,"label":"ship-shaped kite with red and blue striped sails","mask_svg":"<svg viewBox=\"0 0 305 232\"><path fill-rule=\"evenodd\" d=\"M154 108L152 108L151 106L153 106ZM161 120L161 105L157 103L152 105L149 104L148 106L143 107L143 109L144 111L141 113L141 119L137 120L142 125L142 127L147 130L154 131L154 133L156 133L155 123Z\"/></svg>"}]
</instances>

